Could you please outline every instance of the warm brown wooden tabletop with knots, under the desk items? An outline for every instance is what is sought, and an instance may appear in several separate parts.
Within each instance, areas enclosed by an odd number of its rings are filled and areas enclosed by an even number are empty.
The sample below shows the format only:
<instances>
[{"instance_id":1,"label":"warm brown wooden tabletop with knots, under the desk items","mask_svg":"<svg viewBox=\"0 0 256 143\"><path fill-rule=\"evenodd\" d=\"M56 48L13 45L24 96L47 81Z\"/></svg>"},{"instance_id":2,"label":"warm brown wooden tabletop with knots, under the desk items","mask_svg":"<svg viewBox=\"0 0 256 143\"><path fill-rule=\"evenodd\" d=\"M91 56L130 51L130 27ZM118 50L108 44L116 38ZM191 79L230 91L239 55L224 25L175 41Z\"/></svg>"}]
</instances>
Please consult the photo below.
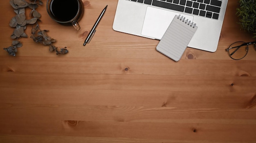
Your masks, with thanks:
<instances>
[{"instance_id":1,"label":"warm brown wooden tabletop with knots, under the desk items","mask_svg":"<svg viewBox=\"0 0 256 143\"><path fill-rule=\"evenodd\" d=\"M255 40L237 24L238 0L229 0L217 51L187 48L179 62L157 52L157 40L114 31L117 1L83 0L76 31L54 22L43 0L40 28L68 54L31 38L18 39L15 57L0 50L0 143L255 143L256 52L235 61L225 51ZM15 13L9 0L0 6L7 48Z\"/></svg>"}]
</instances>

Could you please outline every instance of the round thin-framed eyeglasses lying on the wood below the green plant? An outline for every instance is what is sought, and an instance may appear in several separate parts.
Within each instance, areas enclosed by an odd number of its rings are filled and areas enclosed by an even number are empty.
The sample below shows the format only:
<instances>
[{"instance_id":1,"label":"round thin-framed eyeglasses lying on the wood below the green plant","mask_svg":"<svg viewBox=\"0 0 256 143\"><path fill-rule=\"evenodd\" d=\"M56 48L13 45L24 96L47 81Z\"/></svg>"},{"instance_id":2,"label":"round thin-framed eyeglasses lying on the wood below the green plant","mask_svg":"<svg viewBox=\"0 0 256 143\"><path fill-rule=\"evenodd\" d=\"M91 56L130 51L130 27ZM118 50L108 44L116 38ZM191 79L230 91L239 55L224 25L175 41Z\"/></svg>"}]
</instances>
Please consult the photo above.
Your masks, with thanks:
<instances>
[{"instance_id":1,"label":"round thin-framed eyeglasses lying on the wood below the green plant","mask_svg":"<svg viewBox=\"0 0 256 143\"><path fill-rule=\"evenodd\" d=\"M227 52L229 52L229 56L233 58L234 60L240 60L244 58L248 53L248 45L254 44L254 49L256 50L256 41L253 42L242 42L238 41L229 46L229 48L226 49Z\"/></svg>"}]
</instances>

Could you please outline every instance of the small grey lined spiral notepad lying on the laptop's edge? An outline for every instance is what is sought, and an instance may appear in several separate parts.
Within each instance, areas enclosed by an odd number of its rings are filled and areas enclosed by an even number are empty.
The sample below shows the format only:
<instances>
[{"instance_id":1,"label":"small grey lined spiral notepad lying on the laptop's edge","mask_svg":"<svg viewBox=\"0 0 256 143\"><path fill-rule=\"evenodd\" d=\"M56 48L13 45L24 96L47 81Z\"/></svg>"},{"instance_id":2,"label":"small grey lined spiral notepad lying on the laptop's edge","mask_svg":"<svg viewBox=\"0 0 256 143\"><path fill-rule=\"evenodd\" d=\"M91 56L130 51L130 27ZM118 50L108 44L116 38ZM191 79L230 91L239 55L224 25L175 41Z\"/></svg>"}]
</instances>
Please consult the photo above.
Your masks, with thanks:
<instances>
[{"instance_id":1,"label":"small grey lined spiral notepad lying on the laptop's edge","mask_svg":"<svg viewBox=\"0 0 256 143\"><path fill-rule=\"evenodd\" d=\"M180 61L198 26L186 17L175 15L164 36L157 45L157 51L174 61Z\"/></svg>"}]
</instances>

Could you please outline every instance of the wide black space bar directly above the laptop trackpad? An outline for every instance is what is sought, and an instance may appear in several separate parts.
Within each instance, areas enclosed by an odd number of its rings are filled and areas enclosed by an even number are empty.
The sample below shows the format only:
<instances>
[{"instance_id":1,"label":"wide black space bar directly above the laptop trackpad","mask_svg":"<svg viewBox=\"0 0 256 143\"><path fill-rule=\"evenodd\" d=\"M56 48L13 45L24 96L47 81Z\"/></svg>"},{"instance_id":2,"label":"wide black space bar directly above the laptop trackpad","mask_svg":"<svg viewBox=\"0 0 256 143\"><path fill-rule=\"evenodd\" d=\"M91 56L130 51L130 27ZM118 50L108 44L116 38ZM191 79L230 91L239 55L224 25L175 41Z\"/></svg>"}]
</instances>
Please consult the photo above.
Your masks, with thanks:
<instances>
[{"instance_id":1,"label":"wide black space bar directly above the laptop trackpad","mask_svg":"<svg viewBox=\"0 0 256 143\"><path fill-rule=\"evenodd\" d=\"M161 2L161 1L157 1L157 0L153 0L152 5L159 6L159 7L166 8L166 9L175 10L175 11L181 11L181 12L184 12L184 9L185 9L185 6Z\"/></svg>"}]
</instances>

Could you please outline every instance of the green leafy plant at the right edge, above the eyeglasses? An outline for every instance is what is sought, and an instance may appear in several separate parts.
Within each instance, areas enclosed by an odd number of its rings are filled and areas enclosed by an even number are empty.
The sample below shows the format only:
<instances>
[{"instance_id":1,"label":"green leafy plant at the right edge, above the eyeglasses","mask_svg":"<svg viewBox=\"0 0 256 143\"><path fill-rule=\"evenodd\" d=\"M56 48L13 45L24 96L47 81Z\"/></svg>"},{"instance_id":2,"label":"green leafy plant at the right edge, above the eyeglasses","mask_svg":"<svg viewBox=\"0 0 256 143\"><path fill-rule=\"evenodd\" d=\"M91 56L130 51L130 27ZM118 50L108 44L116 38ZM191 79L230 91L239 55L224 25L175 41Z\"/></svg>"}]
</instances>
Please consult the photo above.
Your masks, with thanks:
<instances>
[{"instance_id":1,"label":"green leafy plant at the right edge, above the eyeglasses","mask_svg":"<svg viewBox=\"0 0 256 143\"><path fill-rule=\"evenodd\" d=\"M240 7L236 9L236 15L239 17L238 24L256 37L256 0L239 0L239 3Z\"/></svg>"}]
</instances>

